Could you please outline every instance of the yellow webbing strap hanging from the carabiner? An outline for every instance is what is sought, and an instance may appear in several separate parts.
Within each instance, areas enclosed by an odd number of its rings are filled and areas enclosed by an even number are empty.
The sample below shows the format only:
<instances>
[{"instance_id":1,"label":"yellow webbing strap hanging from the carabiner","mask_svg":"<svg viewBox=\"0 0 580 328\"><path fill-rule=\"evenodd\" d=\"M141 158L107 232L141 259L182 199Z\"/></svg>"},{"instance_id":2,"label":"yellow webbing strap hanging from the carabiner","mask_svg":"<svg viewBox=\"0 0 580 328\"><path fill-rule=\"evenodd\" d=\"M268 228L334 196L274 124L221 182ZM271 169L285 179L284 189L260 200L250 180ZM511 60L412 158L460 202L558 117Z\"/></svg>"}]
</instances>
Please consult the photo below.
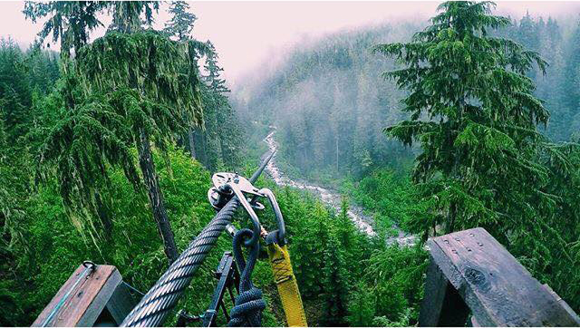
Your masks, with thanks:
<instances>
[{"instance_id":1,"label":"yellow webbing strap hanging from the carabiner","mask_svg":"<svg viewBox=\"0 0 580 328\"><path fill-rule=\"evenodd\" d=\"M302 298L292 271L292 263L286 246L272 243L267 246L270 265L274 273L274 282L278 286L278 294L284 306L286 322L290 327L306 327L306 315Z\"/></svg>"}]
</instances>

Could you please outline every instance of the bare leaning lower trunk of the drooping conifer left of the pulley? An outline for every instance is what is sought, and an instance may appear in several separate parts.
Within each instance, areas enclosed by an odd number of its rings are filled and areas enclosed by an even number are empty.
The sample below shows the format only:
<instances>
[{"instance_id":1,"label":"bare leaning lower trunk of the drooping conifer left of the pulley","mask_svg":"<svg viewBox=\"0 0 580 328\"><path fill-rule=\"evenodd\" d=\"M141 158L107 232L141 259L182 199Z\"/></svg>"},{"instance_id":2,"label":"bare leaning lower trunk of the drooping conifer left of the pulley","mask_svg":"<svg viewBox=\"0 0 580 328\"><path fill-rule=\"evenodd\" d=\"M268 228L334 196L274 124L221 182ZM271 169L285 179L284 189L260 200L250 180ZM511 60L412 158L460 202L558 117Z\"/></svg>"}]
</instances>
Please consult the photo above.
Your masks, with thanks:
<instances>
[{"instance_id":1,"label":"bare leaning lower trunk of the drooping conifer left of the pulley","mask_svg":"<svg viewBox=\"0 0 580 328\"><path fill-rule=\"evenodd\" d=\"M143 180L147 188L150 206L153 210L153 218L157 222L157 227L159 227L160 235L163 239L165 255L169 258L169 263L172 263L179 256L178 248L175 246L175 238L171 230L171 225L169 224L167 211L165 210L159 179L155 172L155 163L151 156L149 135L143 131L140 132L139 165L143 173Z\"/></svg>"}]
</instances>

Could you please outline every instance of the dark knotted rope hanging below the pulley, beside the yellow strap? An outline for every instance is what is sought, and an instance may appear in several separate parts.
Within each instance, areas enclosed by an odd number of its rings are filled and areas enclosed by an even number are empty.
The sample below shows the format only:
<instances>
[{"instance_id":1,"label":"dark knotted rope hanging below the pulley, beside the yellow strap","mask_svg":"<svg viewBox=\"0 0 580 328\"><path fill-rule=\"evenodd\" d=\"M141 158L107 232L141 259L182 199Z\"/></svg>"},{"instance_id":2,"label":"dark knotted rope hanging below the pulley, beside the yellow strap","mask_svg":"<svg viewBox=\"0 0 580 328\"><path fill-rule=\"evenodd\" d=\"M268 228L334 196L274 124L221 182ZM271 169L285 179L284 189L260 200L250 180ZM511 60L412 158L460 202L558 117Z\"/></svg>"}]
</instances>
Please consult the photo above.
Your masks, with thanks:
<instances>
[{"instance_id":1,"label":"dark knotted rope hanging below the pulley, beside the yellow strap","mask_svg":"<svg viewBox=\"0 0 580 328\"><path fill-rule=\"evenodd\" d=\"M234 236L233 250L238 270L242 273L239 279L239 294L236 304L229 313L231 319L227 323L230 327L259 327L262 325L262 311L266 309L266 302L262 299L262 291L252 284L252 272L256 266L257 256L260 253L259 243L249 246L247 262L242 254L244 241L250 240L254 232L250 229L240 229Z\"/></svg>"}]
</instances>

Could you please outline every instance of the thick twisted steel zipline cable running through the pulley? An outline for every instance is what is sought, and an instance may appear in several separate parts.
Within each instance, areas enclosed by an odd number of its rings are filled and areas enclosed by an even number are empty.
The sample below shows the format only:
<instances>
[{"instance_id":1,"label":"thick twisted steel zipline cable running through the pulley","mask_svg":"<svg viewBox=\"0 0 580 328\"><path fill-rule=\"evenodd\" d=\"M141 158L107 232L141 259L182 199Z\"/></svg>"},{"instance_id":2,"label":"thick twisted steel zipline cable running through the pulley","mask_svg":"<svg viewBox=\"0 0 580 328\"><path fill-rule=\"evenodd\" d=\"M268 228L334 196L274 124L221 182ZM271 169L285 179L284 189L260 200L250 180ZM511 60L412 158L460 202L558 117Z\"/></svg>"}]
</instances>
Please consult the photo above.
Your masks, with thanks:
<instances>
[{"instance_id":1,"label":"thick twisted steel zipline cable running through the pulley","mask_svg":"<svg viewBox=\"0 0 580 328\"><path fill-rule=\"evenodd\" d=\"M249 178L250 182L256 182L273 156L274 152L266 157L254 175ZM208 226L204 227L201 233L189 243L188 248L179 255L175 262L169 265L157 283L125 317L121 327L155 327L163 323L191 283L199 265L203 263L211 248L216 244L218 236L226 229L227 224L231 223L238 206L239 201L234 197L219 210L218 214L208 223Z\"/></svg>"}]
</instances>

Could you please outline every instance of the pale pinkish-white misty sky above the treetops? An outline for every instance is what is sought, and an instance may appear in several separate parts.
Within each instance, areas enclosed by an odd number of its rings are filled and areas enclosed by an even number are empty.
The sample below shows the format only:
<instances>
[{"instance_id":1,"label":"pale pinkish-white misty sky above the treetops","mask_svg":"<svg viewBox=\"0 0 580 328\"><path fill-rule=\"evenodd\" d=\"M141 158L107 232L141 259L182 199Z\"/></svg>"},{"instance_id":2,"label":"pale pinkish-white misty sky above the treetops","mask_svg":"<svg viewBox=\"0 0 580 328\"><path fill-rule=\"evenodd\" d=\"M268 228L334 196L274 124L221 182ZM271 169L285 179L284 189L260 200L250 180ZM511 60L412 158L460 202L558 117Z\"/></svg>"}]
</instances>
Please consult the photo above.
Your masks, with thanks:
<instances>
[{"instance_id":1,"label":"pale pinkish-white misty sky above the treetops","mask_svg":"<svg viewBox=\"0 0 580 328\"><path fill-rule=\"evenodd\" d=\"M201 41L210 39L216 45L225 76L235 85L242 74L276 61L295 43L400 19L424 21L435 14L439 2L195 1L190 5L198 16L194 36ZM26 46L42 25L25 21L23 6L23 2L0 3L0 36L11 35ZM158 28L168 19L165 8L162 6L158 15ZM535 16L578 16L580 2L498 2L498 14L520 17L527 10Z\"/></svg>"}]
</instances>

